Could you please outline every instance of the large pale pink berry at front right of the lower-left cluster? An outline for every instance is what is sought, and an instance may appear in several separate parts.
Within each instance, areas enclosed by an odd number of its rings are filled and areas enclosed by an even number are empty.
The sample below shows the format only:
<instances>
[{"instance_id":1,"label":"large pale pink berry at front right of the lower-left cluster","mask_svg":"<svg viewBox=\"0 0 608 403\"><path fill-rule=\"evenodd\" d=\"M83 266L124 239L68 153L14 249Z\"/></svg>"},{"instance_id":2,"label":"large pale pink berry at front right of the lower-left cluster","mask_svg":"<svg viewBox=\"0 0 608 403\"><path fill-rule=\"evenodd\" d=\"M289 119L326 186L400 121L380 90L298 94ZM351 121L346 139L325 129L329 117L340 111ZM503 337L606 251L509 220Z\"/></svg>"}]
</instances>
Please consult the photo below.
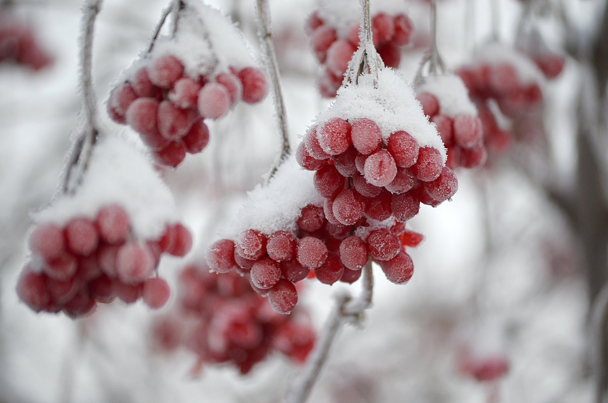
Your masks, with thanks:
<instances>
[{"instance_id":1,"label":"large pale pink berry at front right of the lower-left cluster","mask_svg":"<svg viewBox=\"0 0 608 403\"><path fill-rule=\"evenodd\" d=\"M154 257L145 245L127 243L118 251L116 268L121 281L138 284L154 272Z\"/></svg>"}]
</instances>

